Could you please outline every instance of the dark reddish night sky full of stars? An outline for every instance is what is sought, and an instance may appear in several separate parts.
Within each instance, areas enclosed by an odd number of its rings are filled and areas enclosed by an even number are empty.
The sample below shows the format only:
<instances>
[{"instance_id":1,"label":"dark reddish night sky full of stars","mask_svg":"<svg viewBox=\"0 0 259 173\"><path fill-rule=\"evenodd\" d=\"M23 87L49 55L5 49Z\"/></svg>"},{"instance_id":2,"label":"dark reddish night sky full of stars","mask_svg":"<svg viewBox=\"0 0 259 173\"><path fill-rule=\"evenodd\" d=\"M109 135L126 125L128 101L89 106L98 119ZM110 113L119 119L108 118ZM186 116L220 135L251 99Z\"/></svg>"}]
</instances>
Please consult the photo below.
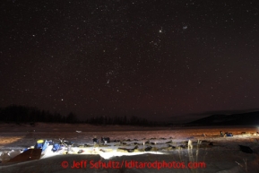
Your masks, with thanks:
<instances>
[{"instance_id":1,"label":"dark reddish night sky full of stars","mask_svg":"<svg viewBox=\"0 0 259 173\"><path fill-rule=\"evenodd\" d=\"M9 0L0 107L187 122L259 108L257 0Z\"/></svg>"}]
</instances>

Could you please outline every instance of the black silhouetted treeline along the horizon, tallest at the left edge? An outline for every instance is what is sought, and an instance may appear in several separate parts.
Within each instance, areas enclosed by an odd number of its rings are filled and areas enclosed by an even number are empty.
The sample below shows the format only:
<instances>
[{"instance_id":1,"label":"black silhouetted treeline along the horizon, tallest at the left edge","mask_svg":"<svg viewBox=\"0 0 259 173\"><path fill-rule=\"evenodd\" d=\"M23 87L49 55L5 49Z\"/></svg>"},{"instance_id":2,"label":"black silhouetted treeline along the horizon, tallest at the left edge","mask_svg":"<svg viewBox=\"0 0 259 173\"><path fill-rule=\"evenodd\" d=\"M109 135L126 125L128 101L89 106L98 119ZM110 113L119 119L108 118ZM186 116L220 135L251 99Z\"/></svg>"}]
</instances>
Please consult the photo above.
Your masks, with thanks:
<instances>
[{"instance_id":1,"label":"black silhouetted treeline along the horizon, tallest at the left edge","mask_svg":"<svg viewBox=\"0 0 259 173\"><path fill-rule=\"evenodd\" d=\"M67 116L55 112L40 110L34 107L11 105L0 108L0 121L7 123L87 123L91 125L159 125L141 117L90 117L85 121L79 120L72 112Z\"/></svg>"}]
</instances>

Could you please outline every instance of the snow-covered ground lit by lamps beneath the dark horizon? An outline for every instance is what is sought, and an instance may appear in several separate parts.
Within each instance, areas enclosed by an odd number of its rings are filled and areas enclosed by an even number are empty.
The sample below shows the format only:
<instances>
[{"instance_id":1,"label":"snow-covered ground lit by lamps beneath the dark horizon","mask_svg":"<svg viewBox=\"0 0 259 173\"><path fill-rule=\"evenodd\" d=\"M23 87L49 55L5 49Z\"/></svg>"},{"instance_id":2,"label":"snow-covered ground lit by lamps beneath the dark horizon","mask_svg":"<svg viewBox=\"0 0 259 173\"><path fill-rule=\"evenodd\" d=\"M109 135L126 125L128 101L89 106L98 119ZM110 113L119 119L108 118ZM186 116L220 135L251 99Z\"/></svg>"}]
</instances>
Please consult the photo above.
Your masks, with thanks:
<instances>
[{"instance_id":1,"label":"snow-covered ground lit by lamps beneath the dark horizon","mask_svg":"<svg viewBox=\"0 0 259 173\"><path fill-rule=\"evenodd\" d=\"M77 132L76 132L77 131ZM230 132L233 137L220 137L220 131ZM259 172L259 131L256 126L213 126L213 127L140 127L122 125L62 125L37 124L10 125L0 124L0 155L2 155L0 172ZM246 132L246 134L242 134ZM93 145L92 139L109 137L107 145ZM8 163L4 160L13 158L39 139L58 143L60 138L73 141L73 151L51 151L47 148L40 160L20 163ZM120 142L114 142L115 140ZM192 141L193 148L184 147ZM138 144L136 144L138 143ZM83 145L87 144L87 147ZM240 151L239 144L251 147L254 153ZM127 152L122 149L133 149ZM169 147L174 146L176 149ZM152 151L143 151L151 146ZM13 150L13 151L12 151ZM83 150L81 154L77 151ZM9 155L8 155L9 153ZM84 161L87 160L85 163ZM63 162L67 161L67 168ZM91 168L91 163L119 163L114 168ZM127 168L125 163L131 161L155 163L173 162L185 166L189 162L200 168ZM73 169L78 162L80 168ZM90 163L91 162L91 163ZM85 165L83 165L85 163ZM86 167L85 167L86 166ZM116 165L115 165L116 166ZM172 165L171 165L172 166ZM195 165L197 166L197 165Z\"/></svg>"}]
</instances>

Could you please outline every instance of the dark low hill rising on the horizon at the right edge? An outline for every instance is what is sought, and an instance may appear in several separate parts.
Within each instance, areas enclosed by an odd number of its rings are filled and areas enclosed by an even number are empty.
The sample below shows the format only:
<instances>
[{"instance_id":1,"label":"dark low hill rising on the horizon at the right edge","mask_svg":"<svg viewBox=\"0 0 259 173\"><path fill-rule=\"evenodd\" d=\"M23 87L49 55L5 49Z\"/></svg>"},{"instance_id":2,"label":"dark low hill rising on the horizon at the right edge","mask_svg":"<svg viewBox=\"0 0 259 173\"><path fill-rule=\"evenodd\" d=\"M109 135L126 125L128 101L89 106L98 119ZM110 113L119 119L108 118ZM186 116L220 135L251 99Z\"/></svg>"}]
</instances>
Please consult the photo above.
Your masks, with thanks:
<instances>
[{"instance_id":1,"label":"dark low hill rising on the horizon at the right edge","mask_svg":"<svg viewBox=\"0 0 259 173\"><path fill-rule=\"evenodd\" d=\"M186 125L259 125L259 111L232 115L212 115Z\"/></svg>"}]
</instances>

